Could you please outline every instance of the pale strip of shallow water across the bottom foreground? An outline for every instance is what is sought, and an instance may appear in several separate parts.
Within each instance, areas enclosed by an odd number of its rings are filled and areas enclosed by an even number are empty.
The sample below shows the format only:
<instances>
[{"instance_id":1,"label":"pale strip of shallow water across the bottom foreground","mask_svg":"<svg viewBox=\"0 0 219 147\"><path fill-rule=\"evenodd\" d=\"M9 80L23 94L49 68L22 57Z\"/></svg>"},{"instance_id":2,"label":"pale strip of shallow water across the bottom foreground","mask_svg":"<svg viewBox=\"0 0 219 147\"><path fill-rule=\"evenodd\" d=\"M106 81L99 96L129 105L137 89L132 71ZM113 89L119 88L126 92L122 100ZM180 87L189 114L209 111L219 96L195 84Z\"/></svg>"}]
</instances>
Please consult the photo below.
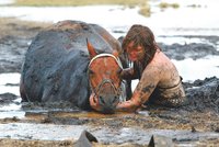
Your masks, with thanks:
<instances>
[{"instance_id":1,"label":"pale strip of shallow water across the bottom foreground","mask_svg":"<svg viewBox=\"0 0 219 147\"><path fill-rule=\"evenodd\" d=\"M10 123L1 124L1 138L15 139L43 139L43 140L76 140L82 131L92 132L102 144L124 144L135 143L147 145L152 135L162 135L173 138L175 142L199 140L207 138L218 138L217 133L191 133L189 131L153 129L142 131L141 128L123 127L117 131L112 128L91 127L87 125L54 125L54 124L26 124ZM189 138L189 139L188 139ZM181 143L186 144L186 143Z\"/></svg>"}]
</instances>

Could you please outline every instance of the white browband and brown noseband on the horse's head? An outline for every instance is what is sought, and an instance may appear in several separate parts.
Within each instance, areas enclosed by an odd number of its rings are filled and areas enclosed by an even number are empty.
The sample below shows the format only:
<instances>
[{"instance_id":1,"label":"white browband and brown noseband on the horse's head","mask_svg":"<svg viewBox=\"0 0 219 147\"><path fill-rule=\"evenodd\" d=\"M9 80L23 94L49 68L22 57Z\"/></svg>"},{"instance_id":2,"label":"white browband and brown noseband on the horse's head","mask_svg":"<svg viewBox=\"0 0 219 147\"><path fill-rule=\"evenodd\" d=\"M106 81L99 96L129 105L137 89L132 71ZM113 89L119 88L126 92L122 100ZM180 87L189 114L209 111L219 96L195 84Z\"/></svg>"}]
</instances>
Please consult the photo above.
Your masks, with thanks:
<instances>
[{"instance_id":1,"label":"white browband and brown noseband on the horse's head","mask_svg":"<svg viewBox=\"0 0 219 147\"><path fill-rule=\"evenodd\" d=\"M91 64L92 64L95 59L101 58L101 57L112 57L112 58L114 58L115 61L116 61L116 64L119 66L119 68L123 69L123 65L122 65L122 63L120 63L120 59L117 58L117 57L115 57L115 56L112 55L112 54L106 54L106 53L104 53L104 54L99 54L99 55L94 56L94 57L91 59L91 61L89 63L88 68L90 68ZM103 80L101 81L101 83L97 84L96 88L93 88L93 87L91 86L92 91L94 92L95 95L97 95L97 92L101 90L102 86L104 86L105 83L110 83L110 84L113 87L113 89L114 89L114 91L116 92L116 94L122 95L122 89L123 89L123 88L116 88L115 84L114 84L114 82L113 82L111 79L103 79ZM90 84L91 84L91 82L90 82ZM124 95L122 95L122 97L124 97ZM120 101L123 101L124 98L119 98L119 99L122 99Z\"/></svg>"}]
</instances>

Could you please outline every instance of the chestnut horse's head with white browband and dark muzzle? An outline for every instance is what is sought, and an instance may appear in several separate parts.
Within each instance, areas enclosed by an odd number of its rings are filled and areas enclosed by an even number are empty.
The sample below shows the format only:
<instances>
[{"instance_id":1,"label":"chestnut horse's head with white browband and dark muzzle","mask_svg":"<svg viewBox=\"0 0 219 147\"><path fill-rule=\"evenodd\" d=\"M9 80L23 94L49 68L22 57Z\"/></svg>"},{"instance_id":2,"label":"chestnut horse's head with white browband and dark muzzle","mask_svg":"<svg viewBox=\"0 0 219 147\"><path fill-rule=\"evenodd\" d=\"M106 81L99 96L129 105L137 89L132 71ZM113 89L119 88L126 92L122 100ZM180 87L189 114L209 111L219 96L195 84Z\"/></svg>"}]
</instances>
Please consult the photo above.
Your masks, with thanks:
<instances>
[{"instance_id":1,"label":"chestnut horse's head with white browband and dark muzzle","mask_svg":"<svg viewBox=\"0 0 219 147\"><path fill-rule=\"evenodd\" d=\"M120 97L122 64L117 52L113 54L96 54L88 42L90 64L89 80L92 89L90 104L92 109L102 113L114 113Z\"/></svg>"}]
</instances>

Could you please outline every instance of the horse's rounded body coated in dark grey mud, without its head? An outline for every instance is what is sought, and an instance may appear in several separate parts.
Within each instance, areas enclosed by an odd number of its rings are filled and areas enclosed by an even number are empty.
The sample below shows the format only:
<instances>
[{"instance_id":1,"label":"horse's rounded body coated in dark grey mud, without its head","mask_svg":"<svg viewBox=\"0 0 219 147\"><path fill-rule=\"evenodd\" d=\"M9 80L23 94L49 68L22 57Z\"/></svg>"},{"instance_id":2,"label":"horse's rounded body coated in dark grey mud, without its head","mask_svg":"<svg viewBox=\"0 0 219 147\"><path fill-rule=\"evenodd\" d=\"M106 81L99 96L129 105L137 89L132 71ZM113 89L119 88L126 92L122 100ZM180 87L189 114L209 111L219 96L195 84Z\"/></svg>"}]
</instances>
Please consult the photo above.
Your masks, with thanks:
<instances>
[{"instance_id":1,"label":"horse's rounded body coated in dark grey mud, without its head","mask_svg":"<svg viewBox=\"0 0 219 147\"><path fill-rule=\"evenodd\" d=\"M22 101L69 101L90 109L87 38L99 54L120 52L118 41L95 24L64 21L41 32L25 56L20 84Z\"/></svg>"}]
</instances>

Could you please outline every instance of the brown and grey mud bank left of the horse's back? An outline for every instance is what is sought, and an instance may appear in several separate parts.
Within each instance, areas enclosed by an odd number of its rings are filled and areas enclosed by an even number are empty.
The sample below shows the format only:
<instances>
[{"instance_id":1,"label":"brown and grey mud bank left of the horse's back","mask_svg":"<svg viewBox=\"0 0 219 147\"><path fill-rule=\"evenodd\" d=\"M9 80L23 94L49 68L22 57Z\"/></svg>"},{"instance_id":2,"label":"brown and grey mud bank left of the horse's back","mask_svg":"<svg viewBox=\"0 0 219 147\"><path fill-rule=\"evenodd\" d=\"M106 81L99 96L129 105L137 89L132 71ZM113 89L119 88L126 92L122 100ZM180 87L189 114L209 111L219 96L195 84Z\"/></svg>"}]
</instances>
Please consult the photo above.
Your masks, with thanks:
<instances>
[{"instance_id":1,"label":"brown and grey mud bank left of the horse's back","mask_svg":"<svg viewBox=\"0 0 219 147\"><path fill-rule=\"evenodd\" d=\"M0 25L0 74L20 72L31 41L48 24L1 18Z\"/></svg>"}]
</instances>

